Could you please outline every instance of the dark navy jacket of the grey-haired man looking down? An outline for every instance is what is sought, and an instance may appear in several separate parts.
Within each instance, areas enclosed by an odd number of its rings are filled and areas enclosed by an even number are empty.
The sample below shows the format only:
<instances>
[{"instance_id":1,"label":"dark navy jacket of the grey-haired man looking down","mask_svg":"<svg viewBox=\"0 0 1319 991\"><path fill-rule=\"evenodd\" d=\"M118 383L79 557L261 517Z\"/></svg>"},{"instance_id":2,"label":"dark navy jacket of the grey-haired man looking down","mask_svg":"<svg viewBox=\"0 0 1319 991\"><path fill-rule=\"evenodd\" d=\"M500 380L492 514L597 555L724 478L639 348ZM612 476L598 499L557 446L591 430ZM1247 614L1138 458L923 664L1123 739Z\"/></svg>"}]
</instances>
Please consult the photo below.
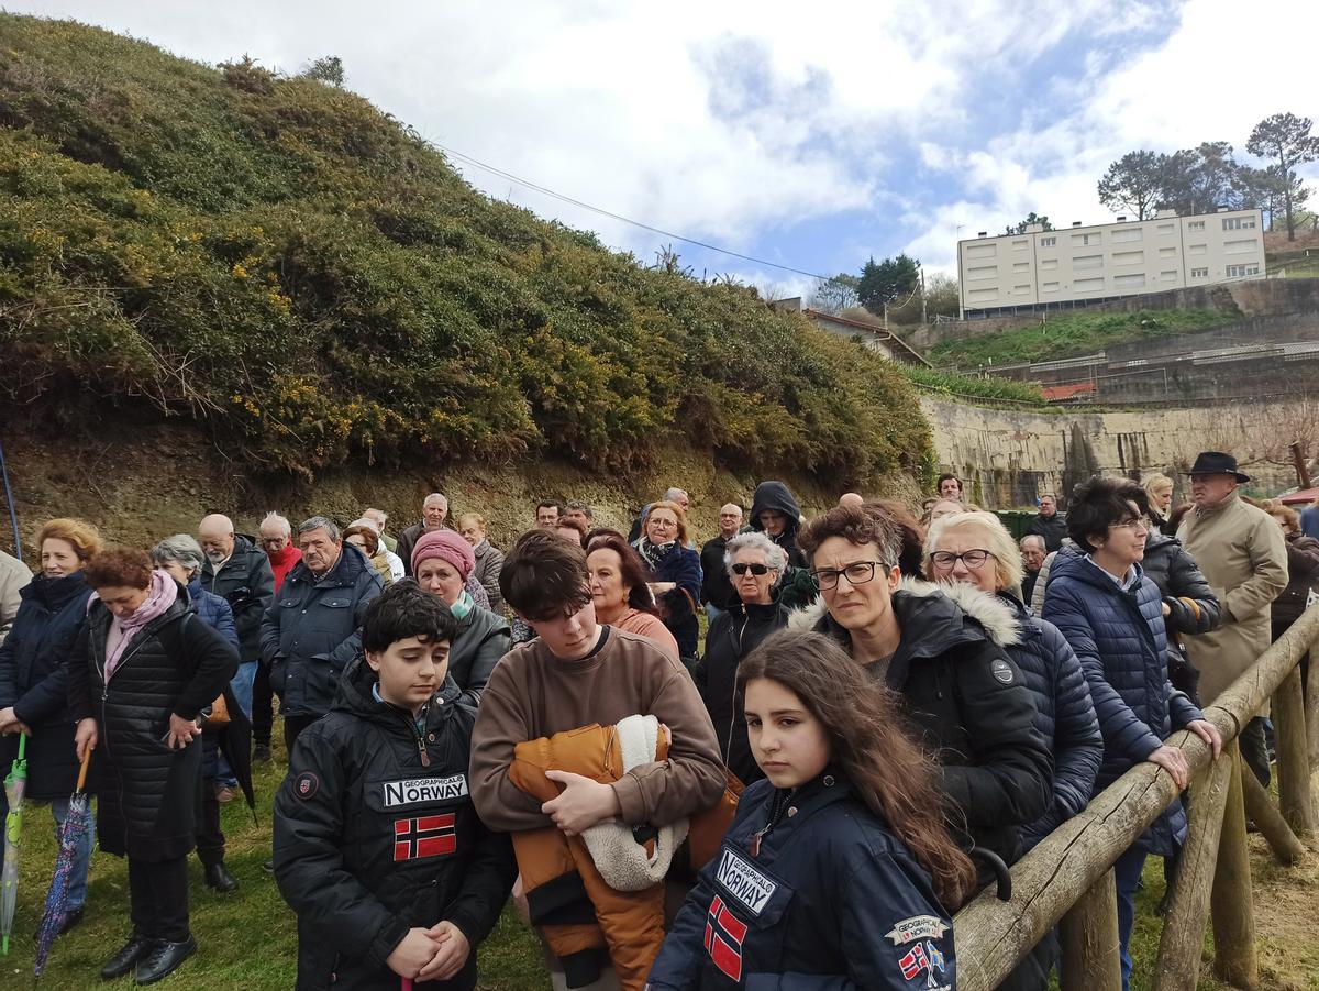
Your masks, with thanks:
<instances>
[{"instance_id":1,"label":"dark navy jacket of the grey-haired man looking down","mask_svg":"<svg viewBox=\"0 0 1319 991\"><path fill-rule=\"evenodd\" d=\"M284 715L324 715L339 676L361 647L361 618L380 595L376 569L344 544L322 578L305 561L289 571L261 624L261 657Z\"/></svg>"}]
</instances>

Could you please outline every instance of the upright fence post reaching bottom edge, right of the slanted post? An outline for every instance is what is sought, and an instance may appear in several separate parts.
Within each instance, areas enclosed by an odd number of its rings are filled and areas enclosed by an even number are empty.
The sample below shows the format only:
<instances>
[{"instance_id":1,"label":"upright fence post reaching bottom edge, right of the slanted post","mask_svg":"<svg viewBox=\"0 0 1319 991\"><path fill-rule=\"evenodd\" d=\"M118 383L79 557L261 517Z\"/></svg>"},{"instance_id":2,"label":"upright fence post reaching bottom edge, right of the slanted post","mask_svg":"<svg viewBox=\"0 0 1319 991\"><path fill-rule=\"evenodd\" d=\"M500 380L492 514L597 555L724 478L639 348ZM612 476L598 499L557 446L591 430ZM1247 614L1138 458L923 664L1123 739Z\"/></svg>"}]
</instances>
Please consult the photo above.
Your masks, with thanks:
<instances>
[{"instance_id":1,"label":"upright fence post reaching bottom edge, right of the slanted post","mask_svg":"<svg viewBox=\"0 0 1319 991\"><path fill-rule=\"evenodd\" d=\"M1260 984L1260 966L1254 955L1250 851L1245 845L1245 808L1241 801L1241 752L1235 739L1224 750L1232 761L1232 769L1223 810L1223 834L1219 837L1217 870L1210 896L1213 914L1213 971L1233 987L1254 988Z\"/></svg>"}]
</instances>

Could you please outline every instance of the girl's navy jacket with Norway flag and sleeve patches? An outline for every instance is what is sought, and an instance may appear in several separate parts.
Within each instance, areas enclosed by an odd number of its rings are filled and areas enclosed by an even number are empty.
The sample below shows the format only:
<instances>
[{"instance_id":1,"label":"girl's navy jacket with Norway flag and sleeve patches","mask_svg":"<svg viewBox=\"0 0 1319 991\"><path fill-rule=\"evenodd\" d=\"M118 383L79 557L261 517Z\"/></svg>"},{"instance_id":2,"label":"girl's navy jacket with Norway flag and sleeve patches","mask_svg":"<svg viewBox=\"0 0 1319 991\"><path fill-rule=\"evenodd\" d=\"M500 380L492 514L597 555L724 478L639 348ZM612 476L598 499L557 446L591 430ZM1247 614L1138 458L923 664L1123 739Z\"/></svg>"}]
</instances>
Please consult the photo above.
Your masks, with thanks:
<instances>
[{"instance_id":1,"label":"girl's navy jacket with Norway flag and sleeve patches","mask_svg":"<svg viewBox=\"0 0 1319 991\"><path fill-rule=\"evenodd\" d=\"M753 835L777 822L753 855ZM656 991L913 991L958 983L930 875L827 771L747 789L650 970Z\"/></svg>"}]
</instances>

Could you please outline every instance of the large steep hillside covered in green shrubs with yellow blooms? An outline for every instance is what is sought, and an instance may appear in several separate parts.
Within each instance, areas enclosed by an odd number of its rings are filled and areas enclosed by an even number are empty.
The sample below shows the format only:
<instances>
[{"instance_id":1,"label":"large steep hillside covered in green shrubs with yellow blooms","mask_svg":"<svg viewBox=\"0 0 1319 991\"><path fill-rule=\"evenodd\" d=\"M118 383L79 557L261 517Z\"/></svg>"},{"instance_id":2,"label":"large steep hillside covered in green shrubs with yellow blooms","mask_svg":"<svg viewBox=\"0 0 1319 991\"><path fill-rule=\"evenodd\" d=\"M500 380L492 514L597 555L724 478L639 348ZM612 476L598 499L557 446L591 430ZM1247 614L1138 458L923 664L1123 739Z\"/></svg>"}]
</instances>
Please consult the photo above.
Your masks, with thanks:
<instances>
[{"instance_id":1,"label":"large steep hillside covered in green shrubs with yellow blooms","mask_svg":"<svg viewBox=\"0 0 1319 991\"><path fill-rule=\"evenodd\" d=\"M890 364L480 195L359 96L8 15L0 348L11 409L194 417L245 471L930 450Z\"/></svg>"}]
</instances>

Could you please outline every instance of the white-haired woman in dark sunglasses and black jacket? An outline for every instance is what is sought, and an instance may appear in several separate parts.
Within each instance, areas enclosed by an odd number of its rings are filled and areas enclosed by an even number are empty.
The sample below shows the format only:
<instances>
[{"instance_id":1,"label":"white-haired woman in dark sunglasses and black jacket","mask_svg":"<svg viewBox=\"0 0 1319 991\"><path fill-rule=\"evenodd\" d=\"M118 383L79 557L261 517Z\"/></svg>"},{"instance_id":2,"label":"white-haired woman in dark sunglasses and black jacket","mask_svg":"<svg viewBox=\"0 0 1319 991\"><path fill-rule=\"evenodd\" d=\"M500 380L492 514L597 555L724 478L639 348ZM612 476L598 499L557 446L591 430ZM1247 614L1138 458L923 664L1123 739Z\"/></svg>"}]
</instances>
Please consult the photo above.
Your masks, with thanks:
<instances>
[{"instance_id":1,"label":"white-haired woman in dark sunglasses and black jacket","mask_svg":"<svg viewBox=\"0 0 1319 991\"><path fill-rule=\"evenodd\" d=\"M787 567L787 552L764 533L743 533L724 548L724 567L739 602L715 620L706 633L706 656L692 677L715 724L719 752L728 769L745 784L765 773L752 756L747 719L737 690L737 669L770 633L787 625L791 615L778 590Z\"/></svg>"}]
</instances>

